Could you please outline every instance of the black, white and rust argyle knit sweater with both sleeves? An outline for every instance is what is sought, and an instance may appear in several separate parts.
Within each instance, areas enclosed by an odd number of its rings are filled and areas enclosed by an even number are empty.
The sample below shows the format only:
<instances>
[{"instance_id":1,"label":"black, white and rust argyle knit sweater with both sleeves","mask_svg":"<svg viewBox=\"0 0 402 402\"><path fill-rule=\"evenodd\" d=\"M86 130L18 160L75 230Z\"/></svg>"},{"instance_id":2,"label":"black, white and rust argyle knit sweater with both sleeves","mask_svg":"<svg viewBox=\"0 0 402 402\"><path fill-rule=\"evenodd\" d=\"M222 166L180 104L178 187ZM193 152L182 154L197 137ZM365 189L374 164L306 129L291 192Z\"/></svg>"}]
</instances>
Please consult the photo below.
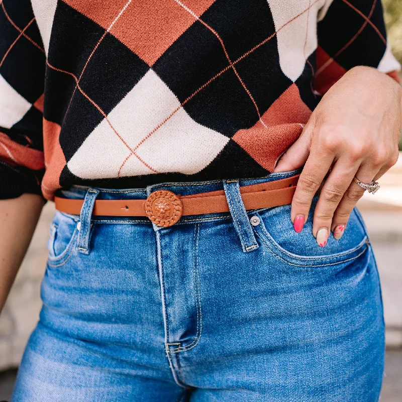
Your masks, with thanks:
<instances>
[{"instance_id":1,"label":"black, white and rust argyle knit sweater with both sleeves","mask_svg":"<svg viewBox=\"0 0 402 402\"><path fill-rule=\"evenodd\" d=\"M400 67L380 0L0 8L0 198L261 177L348 69Z\"/></svg>"}]
</instances>

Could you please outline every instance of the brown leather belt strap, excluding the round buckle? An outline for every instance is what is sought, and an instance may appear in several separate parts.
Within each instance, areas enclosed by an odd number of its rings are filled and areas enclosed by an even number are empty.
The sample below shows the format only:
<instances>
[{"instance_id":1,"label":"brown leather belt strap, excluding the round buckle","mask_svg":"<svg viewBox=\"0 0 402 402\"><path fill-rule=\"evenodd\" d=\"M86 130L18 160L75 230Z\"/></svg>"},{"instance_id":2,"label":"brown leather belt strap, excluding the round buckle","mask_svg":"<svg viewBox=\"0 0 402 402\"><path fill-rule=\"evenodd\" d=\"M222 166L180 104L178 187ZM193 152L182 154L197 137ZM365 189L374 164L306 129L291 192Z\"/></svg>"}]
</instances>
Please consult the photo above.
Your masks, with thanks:
<instances>
[{"instance_id":1,"label":"brown leather belt strap, excluding the round buckle","mask_svg":"<svg viewBox=\"0 0 402 402\"><path fill-rule=\"evenodd\" d=\"M299 174L285 179L240 187L246 210L291 204ZM181 215L202 215L229 212L224 190L177 196L182 204ZM83 199L54 198L56 210L80 215ZM96 199L92 215L114 217L145 217L144 199Z\"/></svg>"}]
</instances>

